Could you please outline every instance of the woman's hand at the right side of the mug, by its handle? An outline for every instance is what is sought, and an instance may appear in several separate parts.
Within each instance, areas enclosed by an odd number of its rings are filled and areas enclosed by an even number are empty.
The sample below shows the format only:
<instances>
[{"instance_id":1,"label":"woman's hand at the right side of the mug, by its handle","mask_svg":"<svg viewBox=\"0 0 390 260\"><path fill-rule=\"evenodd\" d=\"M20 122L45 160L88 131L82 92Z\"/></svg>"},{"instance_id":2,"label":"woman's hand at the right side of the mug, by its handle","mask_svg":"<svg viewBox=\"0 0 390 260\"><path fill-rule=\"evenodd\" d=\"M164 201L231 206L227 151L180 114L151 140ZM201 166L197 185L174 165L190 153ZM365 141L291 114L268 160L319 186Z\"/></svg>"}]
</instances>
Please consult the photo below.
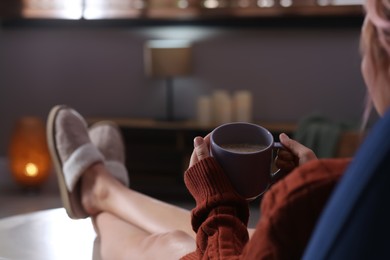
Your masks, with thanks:
<instances>
[{"instance_id":1,"label":"woman's hand at the right side of the mug, by its handle","mask_svg":"<svg viewBox=\"0 0 390 260\"><path fill-rule=\"evenodd\" d=\"M308 161L317 160L317 156L311 149L289 138L286 134L280 134L279 139L286 148L279 149L278 155L276 156L275 165L279 169L290 172L295 167Z\"/></svg>"}]
</instances>

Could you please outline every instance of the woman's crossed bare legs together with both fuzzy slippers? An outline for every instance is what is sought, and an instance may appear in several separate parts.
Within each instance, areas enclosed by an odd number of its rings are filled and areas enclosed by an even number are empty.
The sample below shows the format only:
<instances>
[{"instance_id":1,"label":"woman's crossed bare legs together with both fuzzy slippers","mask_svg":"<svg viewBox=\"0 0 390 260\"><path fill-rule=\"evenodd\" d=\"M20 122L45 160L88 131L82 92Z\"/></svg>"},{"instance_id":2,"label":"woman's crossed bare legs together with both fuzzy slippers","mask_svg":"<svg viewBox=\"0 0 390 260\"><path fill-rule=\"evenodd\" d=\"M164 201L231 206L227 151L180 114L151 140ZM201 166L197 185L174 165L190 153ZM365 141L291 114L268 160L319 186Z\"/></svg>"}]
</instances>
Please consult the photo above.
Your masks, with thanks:
<instances>
[{"instance_id":1,"label":"woman's crossed bare legs together with both fuzzy slippers","mask_svg":"<svg viewBox=\"0 0 390 260\"><path fill-rule=\"evenodd\" d=\"M117 130L91 132L82 116L65 106L51 111L48 130L64 207L72 218L91 216L104 259L179 259L195 250L188 210L124 185Z\"/></svg>"}]
</instances>

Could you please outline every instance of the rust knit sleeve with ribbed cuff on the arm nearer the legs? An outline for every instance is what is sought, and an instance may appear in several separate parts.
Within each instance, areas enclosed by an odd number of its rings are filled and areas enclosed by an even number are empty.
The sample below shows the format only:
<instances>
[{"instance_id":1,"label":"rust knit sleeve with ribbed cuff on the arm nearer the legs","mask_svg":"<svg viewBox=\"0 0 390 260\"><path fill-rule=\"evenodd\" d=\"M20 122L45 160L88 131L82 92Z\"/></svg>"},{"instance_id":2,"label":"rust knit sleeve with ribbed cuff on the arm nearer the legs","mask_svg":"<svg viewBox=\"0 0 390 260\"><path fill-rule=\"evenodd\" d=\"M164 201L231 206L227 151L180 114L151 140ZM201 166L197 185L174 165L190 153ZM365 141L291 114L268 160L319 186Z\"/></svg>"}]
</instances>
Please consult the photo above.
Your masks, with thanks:
<instances>
[{"instance_id":1,"label":"rust knit sleeve with ribbed cuff on the arm nearer the legs","mask_svg":"<svg viewBox=\"0 0 390 260\"><path fill-rule=\"evenodd\" d=\"M197 233L196 252L185 259L238 258L248 242L247 201L212 157L188 169L184 181L196 201L191 221Z\"/></svg>"}]
</instances>

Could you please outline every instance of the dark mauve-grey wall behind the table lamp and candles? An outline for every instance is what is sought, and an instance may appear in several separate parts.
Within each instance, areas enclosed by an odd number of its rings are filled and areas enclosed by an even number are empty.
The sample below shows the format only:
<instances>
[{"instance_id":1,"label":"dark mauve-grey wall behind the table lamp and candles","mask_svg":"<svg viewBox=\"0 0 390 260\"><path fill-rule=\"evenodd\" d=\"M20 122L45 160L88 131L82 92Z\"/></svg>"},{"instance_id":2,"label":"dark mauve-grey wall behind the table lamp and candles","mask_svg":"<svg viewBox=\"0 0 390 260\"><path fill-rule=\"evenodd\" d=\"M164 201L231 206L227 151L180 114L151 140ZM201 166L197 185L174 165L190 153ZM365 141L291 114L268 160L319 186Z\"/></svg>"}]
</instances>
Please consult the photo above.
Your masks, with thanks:
<instances>
[{"instance_id":1,"label":"dark mauve-grey wall behind the table lamp and candles","mask_svg":"<svg viewBox=\"0 0 390 260\"><path fill-rule=\"evenodd\" d=\"M175 80L180 117L214 89L249 89L254 118L298 121L312 112L360 119L365 95L359 28L4 27L0 29L0 156L14 121L69 104L85 116L158 117L163 82L143 70L148 39L194 42L194 73Z\"/></svg>"}]
</instances>

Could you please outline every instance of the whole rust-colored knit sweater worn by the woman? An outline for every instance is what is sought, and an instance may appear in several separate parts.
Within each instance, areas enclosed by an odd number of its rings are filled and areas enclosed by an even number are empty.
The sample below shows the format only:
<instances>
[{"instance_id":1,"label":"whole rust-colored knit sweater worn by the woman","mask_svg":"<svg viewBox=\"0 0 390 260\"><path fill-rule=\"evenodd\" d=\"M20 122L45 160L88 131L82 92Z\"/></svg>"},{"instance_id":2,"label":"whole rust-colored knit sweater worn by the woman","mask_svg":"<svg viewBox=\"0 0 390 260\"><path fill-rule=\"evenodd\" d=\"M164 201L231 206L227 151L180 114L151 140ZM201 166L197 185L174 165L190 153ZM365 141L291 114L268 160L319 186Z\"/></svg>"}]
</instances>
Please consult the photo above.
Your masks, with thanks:
<instances>
[{"instance_id":1,"label":"whole rust-colored knit sweater worn by the woman","mask_svg":"<svg viewBox=\"0 0 390 260\"><path fill-rule=\"evenodd\" d=\"M269 189L249 240L248 202L237 195L214 158L188 169L196 201L196 251L183 259L300 259L314 225L350 159L322 159L296 168Z\"/></svg>"}]
</instances>

